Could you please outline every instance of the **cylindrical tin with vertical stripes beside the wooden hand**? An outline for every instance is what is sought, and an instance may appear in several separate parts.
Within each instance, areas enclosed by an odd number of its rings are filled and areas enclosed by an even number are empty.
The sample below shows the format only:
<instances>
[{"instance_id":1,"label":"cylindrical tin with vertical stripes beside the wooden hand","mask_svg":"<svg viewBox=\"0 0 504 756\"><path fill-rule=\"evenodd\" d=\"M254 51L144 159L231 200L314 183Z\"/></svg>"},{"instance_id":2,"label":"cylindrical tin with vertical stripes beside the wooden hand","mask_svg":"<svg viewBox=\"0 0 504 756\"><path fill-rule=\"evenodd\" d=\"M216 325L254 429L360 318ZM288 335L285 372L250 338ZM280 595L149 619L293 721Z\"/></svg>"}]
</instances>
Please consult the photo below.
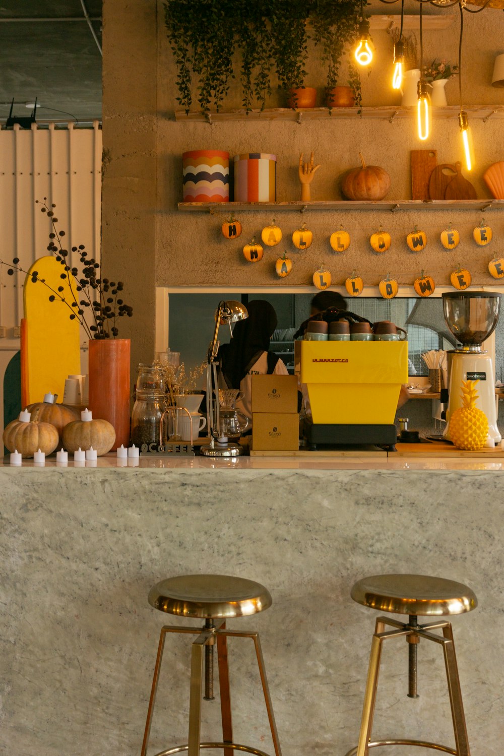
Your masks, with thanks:
<instances>
[{"instance_id":1,"label":"cylindrical tin with vertical stripes beside the wooden hand","mask_svg":"<svg viewBox=\"0 0 504 756\"><path fill-rule=\"evenodd\" d=\"M277 201L277 156L261 152L234 156L234 201Z\"/></svg>"}]
</instances>

